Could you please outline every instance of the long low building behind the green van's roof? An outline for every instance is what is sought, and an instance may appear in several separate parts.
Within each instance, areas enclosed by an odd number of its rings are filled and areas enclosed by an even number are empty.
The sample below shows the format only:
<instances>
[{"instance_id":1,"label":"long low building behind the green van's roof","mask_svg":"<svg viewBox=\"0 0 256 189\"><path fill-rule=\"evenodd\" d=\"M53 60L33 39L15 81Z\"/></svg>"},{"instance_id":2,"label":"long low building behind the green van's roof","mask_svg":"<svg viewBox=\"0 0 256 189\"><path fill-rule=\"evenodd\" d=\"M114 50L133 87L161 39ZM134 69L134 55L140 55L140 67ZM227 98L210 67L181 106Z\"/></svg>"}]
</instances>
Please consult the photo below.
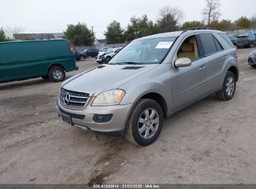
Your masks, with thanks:
<instances>
[{"instance_id":1,"label":"long low building behind the green van's roof","mask_svg":"<svg viewBox=\"0 0 256 189\"><path fill-rule=\"evenodd\" d=\"M13 40L54 40L64 39L63 33L13 34Z\"/></svg>"}]
</instances>

